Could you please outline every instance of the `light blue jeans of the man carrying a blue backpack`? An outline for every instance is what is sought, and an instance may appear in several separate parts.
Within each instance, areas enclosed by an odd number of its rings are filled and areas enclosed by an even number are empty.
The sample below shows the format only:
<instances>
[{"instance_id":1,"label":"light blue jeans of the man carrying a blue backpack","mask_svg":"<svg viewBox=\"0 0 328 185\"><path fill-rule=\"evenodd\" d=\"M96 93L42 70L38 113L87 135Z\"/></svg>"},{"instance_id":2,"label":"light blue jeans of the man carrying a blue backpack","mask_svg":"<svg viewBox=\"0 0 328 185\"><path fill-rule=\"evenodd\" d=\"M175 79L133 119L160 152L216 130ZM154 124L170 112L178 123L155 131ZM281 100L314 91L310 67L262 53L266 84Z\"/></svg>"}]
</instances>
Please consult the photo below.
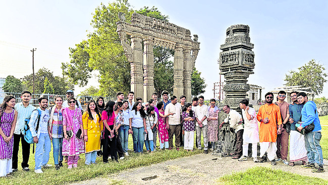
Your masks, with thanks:
<instances>
[{"instance_id":1,"label":"light blue jeans of the man carrying a blue backpack","mask_svg":"<svg viewBox=\"0 0 328 185\"><path fill-rule=\"evenodd\" d=\"M51 142L48 134L40 133L38 143L35 148L35 168L41 169L49 161L49 153L51 150Z\"/></svg>"}]
</instances>

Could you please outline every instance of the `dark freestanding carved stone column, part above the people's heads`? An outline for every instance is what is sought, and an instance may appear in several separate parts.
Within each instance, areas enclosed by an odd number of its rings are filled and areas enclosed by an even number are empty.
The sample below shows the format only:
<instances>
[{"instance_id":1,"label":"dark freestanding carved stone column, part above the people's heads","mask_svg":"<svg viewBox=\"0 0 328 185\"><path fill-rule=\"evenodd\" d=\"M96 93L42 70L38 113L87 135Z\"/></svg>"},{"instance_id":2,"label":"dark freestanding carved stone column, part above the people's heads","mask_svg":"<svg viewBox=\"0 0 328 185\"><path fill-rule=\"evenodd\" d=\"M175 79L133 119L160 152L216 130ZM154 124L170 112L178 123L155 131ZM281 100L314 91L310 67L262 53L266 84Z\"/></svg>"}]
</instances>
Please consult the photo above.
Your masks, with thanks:
<instances>
[{"instance_id":1,"label":"dark freestanding carved stone column, part above the people's heads","mask_svg":"<svg viewBox=\"0 0 328 185\"><path fill-rule=\"evenodd\" d=\"M226 85L224 104L237 109L239 101L246 97L249 91L247 78L253 73L254 69L254 44L250 43L249 26L233 25L227 29L225 44L220 49L220 74L225 76Z\"/></svg>"}]
</instances>

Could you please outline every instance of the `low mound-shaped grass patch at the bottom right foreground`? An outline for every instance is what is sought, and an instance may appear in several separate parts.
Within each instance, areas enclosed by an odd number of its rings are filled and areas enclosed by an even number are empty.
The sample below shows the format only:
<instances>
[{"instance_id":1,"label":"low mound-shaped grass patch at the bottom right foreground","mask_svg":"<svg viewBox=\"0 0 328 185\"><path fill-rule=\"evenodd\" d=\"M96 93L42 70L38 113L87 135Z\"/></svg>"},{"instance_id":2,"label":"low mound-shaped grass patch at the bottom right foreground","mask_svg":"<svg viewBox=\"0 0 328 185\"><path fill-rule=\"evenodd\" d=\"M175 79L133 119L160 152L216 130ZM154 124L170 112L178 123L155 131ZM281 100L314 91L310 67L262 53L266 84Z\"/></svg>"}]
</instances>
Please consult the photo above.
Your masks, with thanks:
<instances>
[{"instance_id":1,"label":"low mound-shaped grass patch at the bottom right foreground","mask_svg":"<svg viewBox=\"0 0 328 185\"><path fill-rule=\"evenodd\" d=\"M282 170L267 167L253 167L243 172L224 175L216 180L216 184L328 184L321 178L302 176Z\"/></svg>"}]
</instances>

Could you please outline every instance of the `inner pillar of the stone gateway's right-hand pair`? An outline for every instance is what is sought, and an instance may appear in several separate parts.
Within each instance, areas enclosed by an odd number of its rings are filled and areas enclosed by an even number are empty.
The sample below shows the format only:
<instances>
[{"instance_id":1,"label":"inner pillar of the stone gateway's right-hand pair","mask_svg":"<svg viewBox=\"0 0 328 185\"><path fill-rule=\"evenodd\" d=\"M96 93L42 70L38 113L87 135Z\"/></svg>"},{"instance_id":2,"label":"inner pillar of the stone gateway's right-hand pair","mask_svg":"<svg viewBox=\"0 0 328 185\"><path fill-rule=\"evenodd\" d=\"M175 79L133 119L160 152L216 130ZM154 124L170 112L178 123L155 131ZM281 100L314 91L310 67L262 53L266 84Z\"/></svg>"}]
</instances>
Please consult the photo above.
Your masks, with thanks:
<instances>
[{"instance_id":1,"label":"inner pillar of the stone gateway's right-hand pair","mask_svg":"<svg viewBox=\"0 0 328 185\"><path fill-rule=\"evenodd\" d=\"M177 44L175 48L173 72L174 72L173 95L179 98L184 93L182 44Z\"/></svg>"}]
</instances>

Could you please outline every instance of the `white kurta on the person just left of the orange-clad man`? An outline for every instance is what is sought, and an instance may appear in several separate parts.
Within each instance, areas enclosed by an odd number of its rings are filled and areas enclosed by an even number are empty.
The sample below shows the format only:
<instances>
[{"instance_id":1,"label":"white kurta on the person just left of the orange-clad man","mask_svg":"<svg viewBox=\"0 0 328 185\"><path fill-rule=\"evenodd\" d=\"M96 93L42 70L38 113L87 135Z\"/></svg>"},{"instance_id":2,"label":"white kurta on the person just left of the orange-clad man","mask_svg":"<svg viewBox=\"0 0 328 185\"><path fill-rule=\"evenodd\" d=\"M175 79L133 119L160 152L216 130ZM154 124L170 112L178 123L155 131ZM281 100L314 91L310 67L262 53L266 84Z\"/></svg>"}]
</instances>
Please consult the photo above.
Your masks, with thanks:
<instances>
[{"instance_id":1,"label":"white kurta on the person just left of the orange-clad man","mask_svg":"<svg viewBox=\"0 0 328 185\"><path fill-rule=\"evenodd\" d=\"M251 120L248 120L246 117L245 110L242 109L243 118L244 118L244 134L243 134L243 142L244 143L258 143L259 135L258 135L258 123L256 119L256 112L254 108L249 107L248 114L251 116Z\"/></svg>"}]
</instances>

